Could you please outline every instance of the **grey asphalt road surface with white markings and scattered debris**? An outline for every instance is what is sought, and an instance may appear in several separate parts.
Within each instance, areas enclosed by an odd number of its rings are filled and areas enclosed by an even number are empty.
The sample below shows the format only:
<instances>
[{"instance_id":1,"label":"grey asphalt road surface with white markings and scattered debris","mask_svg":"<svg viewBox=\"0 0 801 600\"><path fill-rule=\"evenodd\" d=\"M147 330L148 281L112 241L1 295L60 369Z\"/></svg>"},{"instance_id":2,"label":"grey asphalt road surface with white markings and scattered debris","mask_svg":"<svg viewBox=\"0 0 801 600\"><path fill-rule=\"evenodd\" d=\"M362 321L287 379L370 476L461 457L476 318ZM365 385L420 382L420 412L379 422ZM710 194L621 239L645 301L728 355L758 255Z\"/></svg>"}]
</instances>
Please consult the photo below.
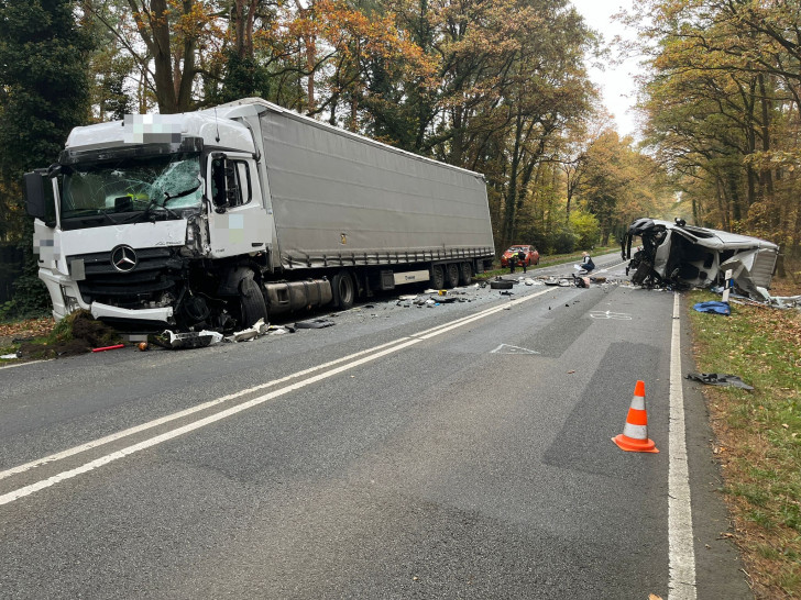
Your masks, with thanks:
<instances>
[{"instance_id":1,"label":"grey asphalt road surface with white markings and scattered debris","mask_svg":"<svg viewBox=\"0 0 801 600\"><path fill-rule=\"evenodd\" d=\"M596 264L0 369L0 598L750 598L687 307Z\"/></svg>"}]
</instances>

